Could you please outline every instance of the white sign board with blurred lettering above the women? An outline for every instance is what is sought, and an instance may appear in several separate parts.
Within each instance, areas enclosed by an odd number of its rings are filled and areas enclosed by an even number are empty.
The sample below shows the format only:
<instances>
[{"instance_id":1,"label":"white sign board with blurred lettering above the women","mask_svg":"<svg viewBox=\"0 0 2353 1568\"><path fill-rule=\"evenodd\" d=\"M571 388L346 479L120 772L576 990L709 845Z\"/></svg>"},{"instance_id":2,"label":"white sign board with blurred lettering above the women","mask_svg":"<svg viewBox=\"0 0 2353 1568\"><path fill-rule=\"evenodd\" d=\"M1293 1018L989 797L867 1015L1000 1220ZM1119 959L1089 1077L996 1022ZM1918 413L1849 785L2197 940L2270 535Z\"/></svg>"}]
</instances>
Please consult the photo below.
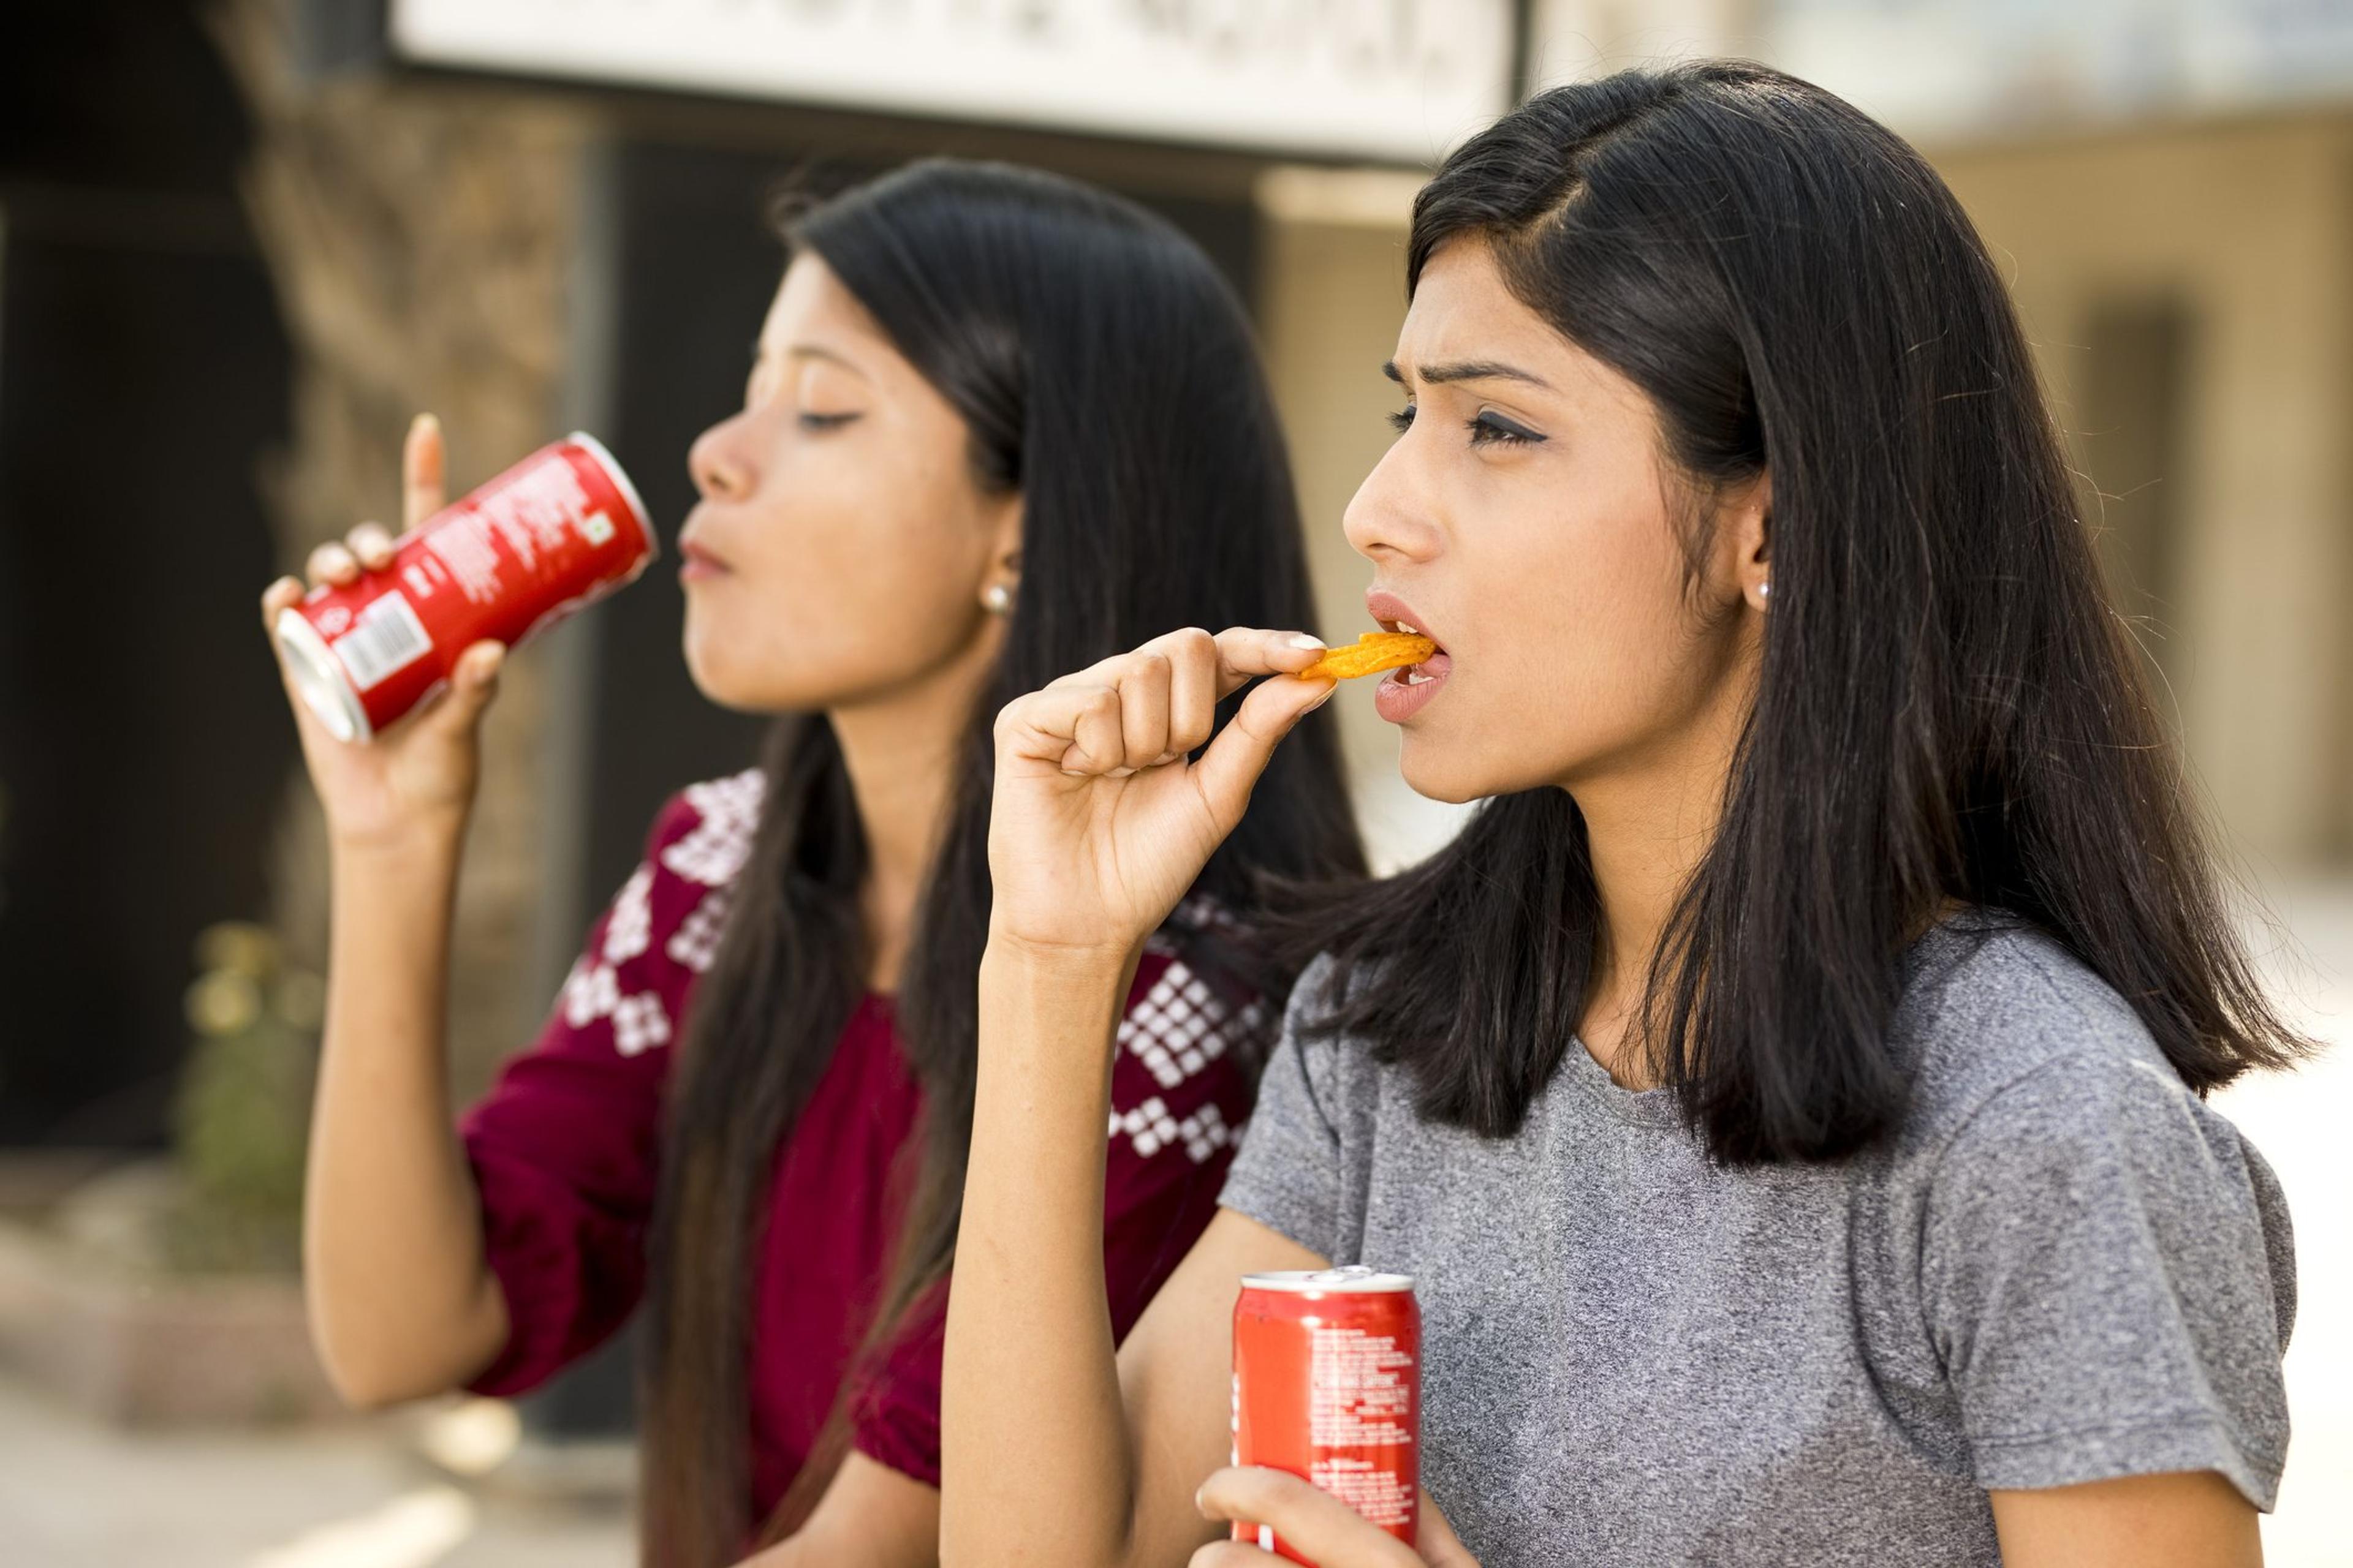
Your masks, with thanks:
<instances>
[{"instance_id":1,"label":"white sign board with blurred lettering above the women","mask_svg":"<svg viewBox=\"0 0 2353 1568\"><path fill-rule=\"evenodd\" d=\"M1428 162L1511 106L1515 0L388 0L416 63Z\"/></svg>"}]
</instances>

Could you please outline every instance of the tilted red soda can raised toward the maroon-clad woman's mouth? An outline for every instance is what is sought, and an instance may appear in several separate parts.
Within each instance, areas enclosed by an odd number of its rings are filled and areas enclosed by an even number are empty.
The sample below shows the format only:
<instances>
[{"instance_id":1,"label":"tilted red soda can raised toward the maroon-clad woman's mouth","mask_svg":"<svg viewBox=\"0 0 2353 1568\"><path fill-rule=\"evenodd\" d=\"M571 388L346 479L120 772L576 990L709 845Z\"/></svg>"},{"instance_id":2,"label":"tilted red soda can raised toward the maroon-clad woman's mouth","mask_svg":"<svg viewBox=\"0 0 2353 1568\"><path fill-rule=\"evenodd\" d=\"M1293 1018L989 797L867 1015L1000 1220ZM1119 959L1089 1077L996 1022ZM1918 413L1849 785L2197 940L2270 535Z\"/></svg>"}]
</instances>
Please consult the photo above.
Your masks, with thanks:
<instances>
[{"instance_id":1,"label":"tilted red soda can raised toward the maroon-clad woman's mouth","mask_svg":"<svg viewBox=\"0 0 2353 1568\"><path fill-rule=\"evenodd\" d=\"M541 447L402 534L391 567L278 614L294 689L336 741L367 741L485 637L515 646L633 583L659 545L593 435Z\"/></svg>"}]
</instances>

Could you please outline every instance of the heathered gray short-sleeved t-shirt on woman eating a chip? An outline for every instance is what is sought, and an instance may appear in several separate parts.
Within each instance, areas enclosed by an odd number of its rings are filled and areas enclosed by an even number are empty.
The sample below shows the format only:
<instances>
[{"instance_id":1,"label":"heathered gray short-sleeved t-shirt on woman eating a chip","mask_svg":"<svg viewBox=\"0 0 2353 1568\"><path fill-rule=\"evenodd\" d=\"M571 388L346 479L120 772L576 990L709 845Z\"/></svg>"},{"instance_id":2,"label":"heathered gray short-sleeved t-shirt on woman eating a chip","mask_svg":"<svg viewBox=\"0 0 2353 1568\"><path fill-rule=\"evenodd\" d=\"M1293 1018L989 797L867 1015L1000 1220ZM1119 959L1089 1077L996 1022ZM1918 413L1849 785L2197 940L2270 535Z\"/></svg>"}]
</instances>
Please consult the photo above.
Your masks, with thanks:
<instances>
[{"instance_id":1,"label":"heathered gray short-sleeved t-shirt on woman eating a chip","mask_svg":"<svg viewBox=\"0 0 2353 1568\"><path fill-rule=\"evenodd\" d=\"M2287 1453L2287 1204L2057 943L1906 959L1904 1126L1720 1168L1584 1051L1506 1140L1292 1001L1224 1204L1417 1276L1424 1486L1485 1568L2000 1563L1986 1488Z\"/></svg>"}]
</instances>

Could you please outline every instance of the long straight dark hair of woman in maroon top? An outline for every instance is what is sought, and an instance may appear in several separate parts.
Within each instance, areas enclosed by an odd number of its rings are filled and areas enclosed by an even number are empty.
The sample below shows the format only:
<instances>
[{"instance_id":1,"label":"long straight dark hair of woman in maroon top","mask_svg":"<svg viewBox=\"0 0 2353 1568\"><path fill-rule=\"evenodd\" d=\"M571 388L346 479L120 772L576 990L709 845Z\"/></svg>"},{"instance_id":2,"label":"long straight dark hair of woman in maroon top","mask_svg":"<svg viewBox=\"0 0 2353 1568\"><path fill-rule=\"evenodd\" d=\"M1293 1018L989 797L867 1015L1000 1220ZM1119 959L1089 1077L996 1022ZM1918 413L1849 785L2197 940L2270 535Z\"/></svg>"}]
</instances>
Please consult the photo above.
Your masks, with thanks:
<instances>
[{"instance_id":1,"label":"long straight dark hair of woman in maroon top","mask_svg":"<svg viewBox=\"0 0 2353 1568\"><path fill-rule=\"evenodd\" d=\"M1005 165L925 160L784 214L962 414L972 470L1024 503L1005 654L965 731L894 1004L925 1114L906 1225L861 1354L936 1302L972 1143L988 938L991 724L1059 675L1181 625L1311 625L1289 461L1240 301L1169 223ZM1228 710L1231 712L1231 710ZM664 1143L645 1359L642 1554L720 1568L798 1528L845 1450L842 1399L786 1502L751 1516L748 1281L774 1152L864 990L866 842L824 715L786 717ZM1249 917L1264 879L1362 875L1329 715L1268 769L1195 893ZM1212 985L1280 999L1292 969L1224 919L1165 933ZM854 1382L856 1368L852 1368Z\"/></svg>"}]
</instances>

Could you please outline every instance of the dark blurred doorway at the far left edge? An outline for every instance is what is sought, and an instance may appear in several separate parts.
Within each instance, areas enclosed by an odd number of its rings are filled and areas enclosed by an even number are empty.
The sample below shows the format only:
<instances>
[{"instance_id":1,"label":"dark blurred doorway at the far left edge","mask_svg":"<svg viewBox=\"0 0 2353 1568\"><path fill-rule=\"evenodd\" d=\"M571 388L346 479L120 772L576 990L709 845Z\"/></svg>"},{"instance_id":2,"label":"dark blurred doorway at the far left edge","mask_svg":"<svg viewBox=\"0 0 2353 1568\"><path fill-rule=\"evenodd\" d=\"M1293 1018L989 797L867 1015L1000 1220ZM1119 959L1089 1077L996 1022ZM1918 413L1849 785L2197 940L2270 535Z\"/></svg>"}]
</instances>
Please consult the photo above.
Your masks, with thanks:
<instances>
[{"instance_id":1,"label":"dark blurred doorway at the far left edge","mask_svg":"<svg viewBox=\"0 0 2353 1568\"><path fill-rule=\"evenodd\" d=\"M0 49L0 1145L162 1140L195 933L259 919L294 731L254 595L289 350L193 5Z\"/></svg>"}]
</instances>

